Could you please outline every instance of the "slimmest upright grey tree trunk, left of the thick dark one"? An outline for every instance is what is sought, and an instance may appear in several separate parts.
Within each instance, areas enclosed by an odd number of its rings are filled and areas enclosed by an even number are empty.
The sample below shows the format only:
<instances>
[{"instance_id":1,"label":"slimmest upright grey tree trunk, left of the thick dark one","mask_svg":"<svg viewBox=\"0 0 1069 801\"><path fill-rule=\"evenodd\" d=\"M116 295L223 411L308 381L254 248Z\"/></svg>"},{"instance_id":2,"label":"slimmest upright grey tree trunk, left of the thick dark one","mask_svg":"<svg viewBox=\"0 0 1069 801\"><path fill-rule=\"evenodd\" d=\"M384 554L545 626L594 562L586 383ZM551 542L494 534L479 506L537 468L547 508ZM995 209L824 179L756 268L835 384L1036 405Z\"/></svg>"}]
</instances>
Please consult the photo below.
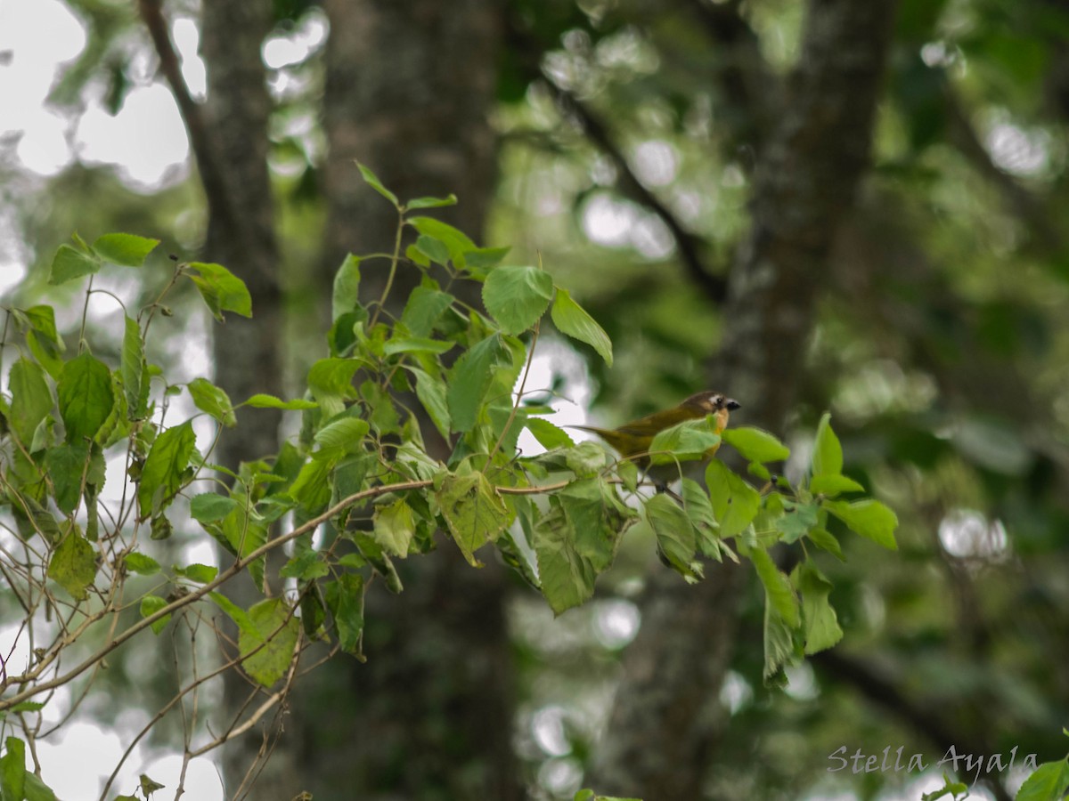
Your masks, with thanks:
<instances>
[{"instance_id":1,"label":"slimmest upright grey tree trunk, left of the thick dark one","mask_svg":"<svg viewBox=\"0 0 1069 801\"><path fill-rule=\"evenodd\" d=\"M281 290L275 237L275 210L267 170L267 124L273 101L260 50L272 28L270 3L204 0L202 52L207 65L208 99L204 107L204 153L198 167L208 200L204 257L245 281L252 297L252 318L228 314L215 330L216 383L236 404L257 392L282 394ZM223 431L214 458L236 470L241 461L278 451L281 415L270 409L239 409L236 428ZM229 559L229 554L223 554ZM227 587L228 596L246 609L261 596L247 577ZM235 632L231 632L235 633ZM248 695L247 680L229 672L223 677L226 720ZM228 798L259 765L259 781L279 786L294 766L282 749L266 765L258 758L259 731L238 738L223 751Z\"/></svg>"}]
</instances>

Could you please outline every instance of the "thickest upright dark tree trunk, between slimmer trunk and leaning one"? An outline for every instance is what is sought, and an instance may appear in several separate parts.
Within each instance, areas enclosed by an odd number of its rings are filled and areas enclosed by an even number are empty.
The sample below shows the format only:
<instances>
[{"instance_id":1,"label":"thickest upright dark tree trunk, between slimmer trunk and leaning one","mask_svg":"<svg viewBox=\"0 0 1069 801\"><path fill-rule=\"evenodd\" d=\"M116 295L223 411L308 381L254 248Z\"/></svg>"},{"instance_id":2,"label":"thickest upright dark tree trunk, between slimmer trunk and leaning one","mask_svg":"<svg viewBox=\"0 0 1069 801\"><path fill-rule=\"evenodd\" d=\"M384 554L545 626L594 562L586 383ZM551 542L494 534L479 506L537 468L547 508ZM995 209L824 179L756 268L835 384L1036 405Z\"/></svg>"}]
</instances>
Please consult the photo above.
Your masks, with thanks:
<instances>
[{"instance_id":1,"label":"thickest upright dark tree trunk, between slimmer trunk and leaning one","mask_svg":"<svg viewBox=\"0 0 1069 801\"><path fill-rule=\"evenodd\" d=\"M500 38L489 0L327 0L326 10L325 288L346 253L393 248L397 213L354 159L402 201L458 194L434 215L478 239L495 177ZM378 299L385 264L361 265L365 302ZM398 312L417 282L402 269L388 308ZM502 571L471 569L446 540L399 567L404 593L376 583L367 599L368 662L337 659L298 690L301 788L368 801L521 798Z\"/></svg>"}]
</instances>

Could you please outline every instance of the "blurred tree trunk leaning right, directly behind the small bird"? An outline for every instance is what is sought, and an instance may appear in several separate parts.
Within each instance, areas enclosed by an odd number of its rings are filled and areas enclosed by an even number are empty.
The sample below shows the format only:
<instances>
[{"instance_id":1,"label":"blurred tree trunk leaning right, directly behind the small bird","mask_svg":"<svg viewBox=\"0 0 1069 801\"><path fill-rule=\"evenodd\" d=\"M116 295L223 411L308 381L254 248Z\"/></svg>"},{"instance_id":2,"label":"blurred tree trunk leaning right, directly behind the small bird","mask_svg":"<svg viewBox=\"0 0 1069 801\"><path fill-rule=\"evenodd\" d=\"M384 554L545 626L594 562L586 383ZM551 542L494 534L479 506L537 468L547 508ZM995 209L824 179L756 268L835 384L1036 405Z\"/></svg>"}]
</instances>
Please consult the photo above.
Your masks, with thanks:
<instances>
[{"instance_id":1,"label":"blurred tree trunk leaning right, directly behind the small bird","mask_svg":"<svg viewBox=\"0 0 1069 801\"><path fill-rule=\"evenodd\" d=\"M743 403L747 424L783 430L796 397L827 254L869 159L894 3L810 0L802 53L755 174L753 225L739 250L710 386ZM600 792L704 797L727 727L718 703L730 665L744 568L715 565L691 587L664 571L624 661L599 764Z\"/></svg>"}]
</instances>

